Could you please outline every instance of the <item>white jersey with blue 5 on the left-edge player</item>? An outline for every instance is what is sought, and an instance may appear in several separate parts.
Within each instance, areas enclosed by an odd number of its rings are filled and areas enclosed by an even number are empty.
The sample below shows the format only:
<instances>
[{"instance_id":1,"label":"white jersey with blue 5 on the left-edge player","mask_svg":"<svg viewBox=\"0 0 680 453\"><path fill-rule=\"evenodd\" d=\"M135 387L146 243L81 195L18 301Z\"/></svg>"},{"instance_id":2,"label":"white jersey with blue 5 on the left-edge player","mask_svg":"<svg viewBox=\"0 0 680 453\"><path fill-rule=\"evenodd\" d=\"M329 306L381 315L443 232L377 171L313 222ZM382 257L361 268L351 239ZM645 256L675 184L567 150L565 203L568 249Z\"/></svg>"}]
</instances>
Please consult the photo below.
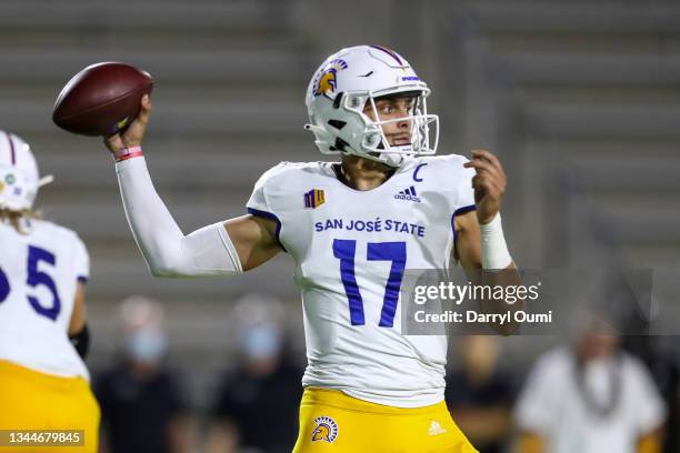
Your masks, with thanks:
<instances>
[{"instance_id":1,"label":"white jersey with blue 5 on the left-edge player","mask_svg":"<svg viewBox=\"0 0 680 453\"><path fill-rule=\"evenodd\" d=\"M46 221L28 234L0 222L0 360L89 379L68 338L78 281L89 276L78 235Z\"/></svg>"}]
</instances>

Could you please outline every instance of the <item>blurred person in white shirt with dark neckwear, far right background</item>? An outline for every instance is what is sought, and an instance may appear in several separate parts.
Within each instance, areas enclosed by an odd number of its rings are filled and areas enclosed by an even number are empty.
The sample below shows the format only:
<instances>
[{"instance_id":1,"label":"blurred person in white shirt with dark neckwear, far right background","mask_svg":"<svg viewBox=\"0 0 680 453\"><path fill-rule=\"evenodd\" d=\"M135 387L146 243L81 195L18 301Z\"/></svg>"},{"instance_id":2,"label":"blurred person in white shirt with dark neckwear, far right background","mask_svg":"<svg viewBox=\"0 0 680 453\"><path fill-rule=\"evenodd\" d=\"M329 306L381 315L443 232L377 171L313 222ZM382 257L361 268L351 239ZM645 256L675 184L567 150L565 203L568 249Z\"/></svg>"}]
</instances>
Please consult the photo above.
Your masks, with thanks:
<instances>
[{"instance_id":1,"label":"blurred person in white shirt with dark neckwear, far right background","mask_svg":"<svg viewBox=\"0 0 680 453\"><path fill-rule=\"evenodd\" d=\"M664 407L650 373L601 321L539 359L516 407L520 453L661 450Z\"/></svg>"}]
</instances>

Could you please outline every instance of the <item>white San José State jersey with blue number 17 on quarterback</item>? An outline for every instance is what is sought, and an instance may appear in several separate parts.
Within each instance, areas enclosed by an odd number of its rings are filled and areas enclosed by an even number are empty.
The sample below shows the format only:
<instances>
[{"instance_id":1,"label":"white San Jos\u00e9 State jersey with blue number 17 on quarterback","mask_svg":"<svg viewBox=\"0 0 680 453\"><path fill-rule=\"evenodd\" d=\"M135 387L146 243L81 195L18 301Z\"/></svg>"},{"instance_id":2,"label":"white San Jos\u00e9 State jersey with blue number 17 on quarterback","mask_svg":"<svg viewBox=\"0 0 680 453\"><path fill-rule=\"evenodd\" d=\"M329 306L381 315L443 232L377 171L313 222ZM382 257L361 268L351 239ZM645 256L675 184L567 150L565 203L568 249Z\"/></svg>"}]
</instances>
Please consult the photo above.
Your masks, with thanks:
<instances>
[{"instance_id":1,"label":"white San Jos\u00e9 State jersey with blue number 17 on quarterback","mask_svg":"<svg viewBox=\"0 0 680 453\"><path fill-rule=\"evenodd\" d=\"M402 335L404 270L447 269L453 215L474 209L460 155L408 160L359 191L330 162L282 162L257 182L252 214L277 221L302 292L304 386L417 407L443 400L447 339Z\"/></svg>"}]
</instances>

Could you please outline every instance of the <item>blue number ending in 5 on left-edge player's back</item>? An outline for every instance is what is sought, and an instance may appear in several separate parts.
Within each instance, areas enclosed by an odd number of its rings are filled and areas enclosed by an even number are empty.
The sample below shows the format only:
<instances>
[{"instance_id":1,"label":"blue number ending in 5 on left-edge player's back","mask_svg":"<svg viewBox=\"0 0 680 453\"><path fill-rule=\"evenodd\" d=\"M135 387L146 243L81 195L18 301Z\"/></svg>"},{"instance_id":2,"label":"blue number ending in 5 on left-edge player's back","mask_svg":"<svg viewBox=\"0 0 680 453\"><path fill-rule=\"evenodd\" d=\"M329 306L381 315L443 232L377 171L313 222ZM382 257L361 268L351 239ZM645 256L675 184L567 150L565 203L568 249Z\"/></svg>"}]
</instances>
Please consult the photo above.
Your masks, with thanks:
<instances>
[{"instance_id":1,"label":"blue number ending in 5 on left-edge player's back","mask_svg":"<svg viewBox=\"0 0 680 453\"><path fill-rule=\"evenodd\" d=\"M40 301L38 301L38 298L33 295L27 295L27 299L38 314L41 314L52 321L56 321L57 316L59 315L59 312L61 311L61 300L59 299L59 294L57 293L54 280L52 280L49 274L40 271L38 269L38 265L41 261L46 262L47 264L54 265L57 259L54 258L53 253L50 253L44 249L40 249L33 245L29 245L28 252L28 278L26 280L26 283L31 288L36 288L39 285L46 286L52 293L52 304L51 306L43 306L40 304ZM0 269L0 303L4 302L4 300L9 296L10 290L11 289L7 274L2 272L2 269Z\"/></svg>"}]
</instances>

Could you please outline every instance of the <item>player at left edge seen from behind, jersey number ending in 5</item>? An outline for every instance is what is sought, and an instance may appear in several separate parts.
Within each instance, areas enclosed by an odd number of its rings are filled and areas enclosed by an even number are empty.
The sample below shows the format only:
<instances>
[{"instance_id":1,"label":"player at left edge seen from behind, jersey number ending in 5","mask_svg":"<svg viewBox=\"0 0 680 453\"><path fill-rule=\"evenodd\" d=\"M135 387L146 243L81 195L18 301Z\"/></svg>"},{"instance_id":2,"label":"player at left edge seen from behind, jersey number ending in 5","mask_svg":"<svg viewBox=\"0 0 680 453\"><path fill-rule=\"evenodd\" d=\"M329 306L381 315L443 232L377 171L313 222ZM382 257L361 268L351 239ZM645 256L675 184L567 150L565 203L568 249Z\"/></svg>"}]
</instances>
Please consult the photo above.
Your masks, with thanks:
<instances>
[{"instance_id":1,"label":"player at left edge seen from behind, jersey number ending in 5","mask_svg":"<svg viewBox=\"0 0 680 453\"><path fill-rule=\"evenodd\" d=\"M33 210L50 181L27 143L0 131L0 430L83 431L58 450L96 452L99 405L82 361L89 256L73 231Z\"/></svg>"}]
</instances>

